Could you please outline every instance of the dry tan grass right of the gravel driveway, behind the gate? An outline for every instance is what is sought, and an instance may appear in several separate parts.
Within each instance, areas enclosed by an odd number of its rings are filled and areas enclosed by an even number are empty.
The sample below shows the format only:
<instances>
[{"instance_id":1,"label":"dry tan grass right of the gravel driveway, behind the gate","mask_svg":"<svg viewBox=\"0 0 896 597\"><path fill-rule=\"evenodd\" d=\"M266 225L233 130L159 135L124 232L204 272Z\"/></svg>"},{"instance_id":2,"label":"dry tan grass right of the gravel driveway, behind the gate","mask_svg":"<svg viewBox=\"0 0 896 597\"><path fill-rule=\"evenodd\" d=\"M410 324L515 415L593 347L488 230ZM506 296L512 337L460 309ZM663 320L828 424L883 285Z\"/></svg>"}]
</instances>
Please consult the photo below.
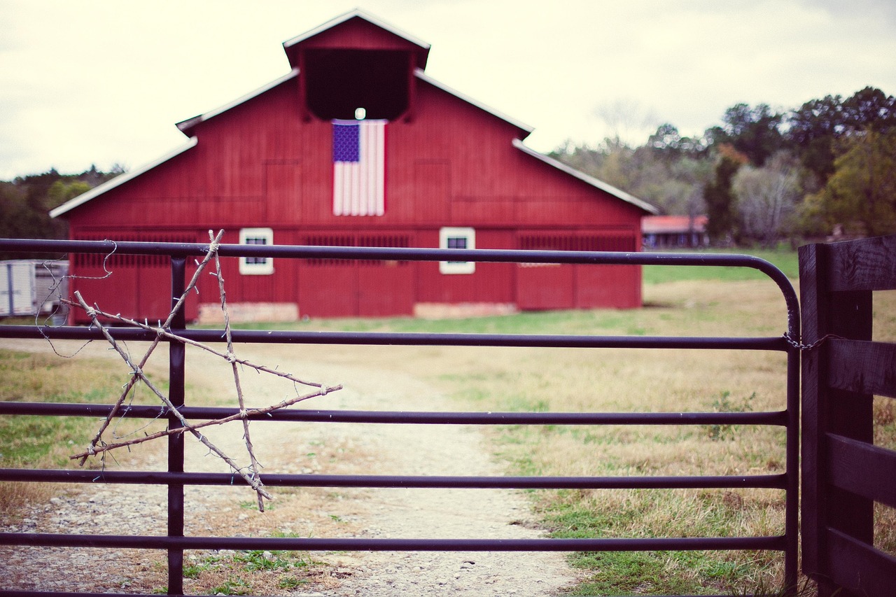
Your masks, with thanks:
<instances>
[{"instance_id":1,"label":"dry tan grass right of the gravel driveway, behind the gate","mask_svg":"<svg viewBox=\"0 0 896 597\"><path fill-rule=\"evenodd\" d=\"M620 312L615 327L607 327L606 312L595 312L593 327L582 316L575 329L561 333L774 336L786 330L786 308L771 283L684 281L646 290L650 307ZM730 350L487 348L426 349L409 362L471 410L712 411L722 402L731 410L780 411L786 403L786 360L780 353ZM780 428L732 428L715 437L702 426L495 430L497 455L527 474L784 471ZM532 496L545 523L561 536L762 536L780 534L784 526L780 490L539 491ZM680 575L696 593L772 586L782 577L776 553L657 558L659 577ZM625 562L607 560L586 565L619 574L628 569Z\"/></svg>"}]
</instances>

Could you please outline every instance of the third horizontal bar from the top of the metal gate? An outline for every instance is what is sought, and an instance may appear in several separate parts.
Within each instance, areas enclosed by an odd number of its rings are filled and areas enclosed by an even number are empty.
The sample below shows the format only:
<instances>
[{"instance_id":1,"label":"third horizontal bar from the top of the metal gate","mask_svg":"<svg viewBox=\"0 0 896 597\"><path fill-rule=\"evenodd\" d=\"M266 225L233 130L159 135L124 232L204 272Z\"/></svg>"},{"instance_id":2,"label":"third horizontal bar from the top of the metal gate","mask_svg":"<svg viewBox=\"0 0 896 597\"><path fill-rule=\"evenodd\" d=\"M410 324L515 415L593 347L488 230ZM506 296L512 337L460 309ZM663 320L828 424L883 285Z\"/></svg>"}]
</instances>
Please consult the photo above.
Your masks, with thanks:
<instances>
[{"instance_id":1,"label":"third horizontal bar from the top of the metal gate","mask_svg":"<svg viewBox=\"0 0 896 597\"><path fill-rule=\"evenodd\" d=\"M105 417L111 404L76 402L0 402L0 415ZM223 419L237 408L184 406L187 420ZM117 416L159 419L163 406L132 405ZM318 411L279 409L249 420L289 420L322 423L397 423L420 425L787 425L787 411L759 412L455 412L455 411Z\"/></svg>"}]
</instances>

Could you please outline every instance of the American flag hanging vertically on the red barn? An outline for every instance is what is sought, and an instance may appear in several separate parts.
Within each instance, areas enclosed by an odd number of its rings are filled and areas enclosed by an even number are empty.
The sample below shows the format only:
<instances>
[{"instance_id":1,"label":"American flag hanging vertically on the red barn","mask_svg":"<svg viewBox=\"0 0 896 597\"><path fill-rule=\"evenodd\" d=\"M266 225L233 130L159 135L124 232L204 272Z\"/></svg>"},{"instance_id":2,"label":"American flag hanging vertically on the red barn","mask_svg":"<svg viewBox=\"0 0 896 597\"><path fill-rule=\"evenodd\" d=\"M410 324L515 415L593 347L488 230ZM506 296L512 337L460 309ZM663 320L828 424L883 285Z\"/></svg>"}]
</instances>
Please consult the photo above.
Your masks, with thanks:
<instances>
[{"instance_id":1,"label":"American flag hanging vertically on the red barn","mask_svg":"<svg viewBox=\"0 0 896 597\"><path fill-rule=\"evenodd\" d=\"M385 120L333 120L333 215L385 213Z\"/></svg>"}]
</instances>

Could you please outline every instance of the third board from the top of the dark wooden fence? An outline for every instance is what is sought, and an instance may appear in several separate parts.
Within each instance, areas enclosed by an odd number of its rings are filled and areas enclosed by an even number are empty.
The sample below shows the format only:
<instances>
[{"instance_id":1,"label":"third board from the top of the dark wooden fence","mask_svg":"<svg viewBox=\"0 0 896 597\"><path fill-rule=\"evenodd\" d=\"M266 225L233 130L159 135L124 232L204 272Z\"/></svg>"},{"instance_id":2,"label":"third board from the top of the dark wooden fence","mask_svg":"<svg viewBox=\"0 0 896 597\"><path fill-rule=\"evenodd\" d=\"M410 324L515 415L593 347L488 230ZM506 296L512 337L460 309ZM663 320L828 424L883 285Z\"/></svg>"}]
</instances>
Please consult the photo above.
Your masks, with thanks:
<instances>
[{"instance_id":1,"label":"third board from the top of the dark wooden fence","mask_svg":"<svg viewBox=\"0 0 896 597\"><path fill-rule=\"evenodd\" d=\"M827 437L831 485L896 507L896 452L849 437Z\"/></svg>"}]
</instances>

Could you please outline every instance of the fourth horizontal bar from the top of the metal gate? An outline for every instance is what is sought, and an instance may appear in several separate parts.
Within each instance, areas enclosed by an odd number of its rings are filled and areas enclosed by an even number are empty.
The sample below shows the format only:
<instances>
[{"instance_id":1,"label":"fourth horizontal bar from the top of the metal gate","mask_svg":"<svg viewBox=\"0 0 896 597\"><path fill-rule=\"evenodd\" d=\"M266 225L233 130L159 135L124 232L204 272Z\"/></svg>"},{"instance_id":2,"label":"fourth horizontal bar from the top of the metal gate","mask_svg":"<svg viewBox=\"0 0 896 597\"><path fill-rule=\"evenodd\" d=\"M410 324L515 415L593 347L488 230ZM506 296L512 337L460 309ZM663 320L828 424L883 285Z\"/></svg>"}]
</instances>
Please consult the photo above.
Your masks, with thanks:
<instances>
[{"instance_id":1,"label":"fourth horizontal bar from the top of the metal gate","mask_svg":"<svg viewBox=\"0 0 896 597\"><path fill-rule=\"evenodd\" d=\"M0 469L0 480L137 485L246 485L227 472ZM663 477L464 477L447 475L263 474L266 487L393 489L785 489L786 474Z\"/></svg>"}]
</instances>

